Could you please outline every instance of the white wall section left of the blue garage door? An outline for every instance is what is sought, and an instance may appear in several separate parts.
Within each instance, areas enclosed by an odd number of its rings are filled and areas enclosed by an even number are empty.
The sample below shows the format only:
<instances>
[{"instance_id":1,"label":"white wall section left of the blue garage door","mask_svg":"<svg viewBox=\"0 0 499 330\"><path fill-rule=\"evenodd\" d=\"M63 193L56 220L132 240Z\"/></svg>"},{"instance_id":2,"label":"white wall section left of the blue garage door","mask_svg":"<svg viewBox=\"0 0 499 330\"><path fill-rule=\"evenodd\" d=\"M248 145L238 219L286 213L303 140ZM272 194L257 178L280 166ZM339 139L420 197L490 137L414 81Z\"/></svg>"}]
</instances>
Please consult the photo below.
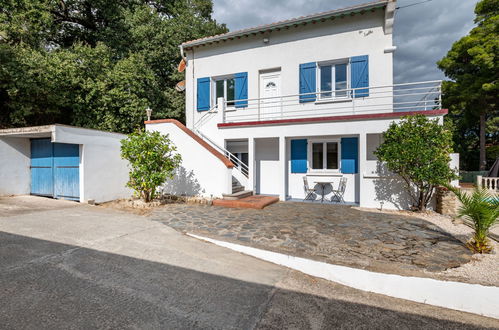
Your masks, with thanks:
<instances>
[{"instance_id":1,"label":"white wall section left of the blue garage door","mask_svg":"<svg viewBox=\"0 0 499 330\"><path fill-rule=\"evenodd\" d=\"M29 139L0 137L0 196L30 192Z\"/></svg>"}]
</instances>

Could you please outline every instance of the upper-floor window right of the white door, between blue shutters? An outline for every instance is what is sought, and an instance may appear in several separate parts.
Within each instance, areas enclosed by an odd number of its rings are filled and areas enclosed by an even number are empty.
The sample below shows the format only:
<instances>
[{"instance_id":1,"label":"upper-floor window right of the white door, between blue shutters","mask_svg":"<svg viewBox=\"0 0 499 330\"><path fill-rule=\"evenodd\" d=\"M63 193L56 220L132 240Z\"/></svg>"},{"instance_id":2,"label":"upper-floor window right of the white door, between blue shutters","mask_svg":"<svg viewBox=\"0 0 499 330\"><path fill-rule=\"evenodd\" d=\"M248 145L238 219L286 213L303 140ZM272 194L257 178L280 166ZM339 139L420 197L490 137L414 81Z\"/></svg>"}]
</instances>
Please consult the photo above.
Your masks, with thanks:
<instances>
[{"instance_id":1,"label":"upper-floor window right of the white door, between blue shutters","mask_svg":"<svg viewBox=\"0 0 499 330\"><path fill-rule=\"evenodd\" d=\"M319 99L345 98L350 86L348 61L319 63Z\"/></svg>"}]
</instances>

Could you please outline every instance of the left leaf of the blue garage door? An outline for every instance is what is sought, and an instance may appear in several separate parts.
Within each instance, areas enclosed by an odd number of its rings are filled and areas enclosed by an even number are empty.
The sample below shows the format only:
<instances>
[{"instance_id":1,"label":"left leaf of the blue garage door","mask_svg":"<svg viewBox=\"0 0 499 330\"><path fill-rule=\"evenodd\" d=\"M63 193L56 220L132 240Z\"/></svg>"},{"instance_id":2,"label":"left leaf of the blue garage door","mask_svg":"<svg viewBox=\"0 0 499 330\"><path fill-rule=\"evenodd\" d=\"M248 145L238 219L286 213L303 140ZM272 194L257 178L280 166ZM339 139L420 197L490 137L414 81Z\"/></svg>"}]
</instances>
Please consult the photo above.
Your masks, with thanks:
<instances>
[{"instance_id":1,"label":"left leaf of the blue garage door","mask_svg":"<svg viewBox=\"0 0 499 330\"><path fill-rule=\"evenodd\" d=\"M53 157L50 139L31 140L31 193L53 196Z\"/></svg>"}]
</instances>

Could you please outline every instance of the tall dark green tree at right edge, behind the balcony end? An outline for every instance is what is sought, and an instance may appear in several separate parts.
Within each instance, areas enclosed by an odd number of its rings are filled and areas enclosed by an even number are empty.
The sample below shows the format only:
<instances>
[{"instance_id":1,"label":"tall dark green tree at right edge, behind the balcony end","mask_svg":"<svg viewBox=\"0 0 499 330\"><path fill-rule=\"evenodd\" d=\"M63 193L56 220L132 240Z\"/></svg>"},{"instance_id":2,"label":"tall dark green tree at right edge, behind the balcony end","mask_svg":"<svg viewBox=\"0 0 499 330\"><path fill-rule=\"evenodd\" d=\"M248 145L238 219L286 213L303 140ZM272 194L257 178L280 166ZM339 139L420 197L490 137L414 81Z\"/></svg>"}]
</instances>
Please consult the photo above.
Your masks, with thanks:
<instances>
[{"instance_id":1,"label":"tall dark green tree at right edge, behind the balcony end","mask_svg":"<svg viewBox=\"0 0 499 330\"><path fill-rule=\"evenodd\" d=\"M443 106L456 127L455 149L466 170L487 168L486 145L499 144L499 0L481 0L475 14L477 26L437 63L452 80L443 85ZM489 157L488 164L493 161Z\"/></svg>"}]
</instances>

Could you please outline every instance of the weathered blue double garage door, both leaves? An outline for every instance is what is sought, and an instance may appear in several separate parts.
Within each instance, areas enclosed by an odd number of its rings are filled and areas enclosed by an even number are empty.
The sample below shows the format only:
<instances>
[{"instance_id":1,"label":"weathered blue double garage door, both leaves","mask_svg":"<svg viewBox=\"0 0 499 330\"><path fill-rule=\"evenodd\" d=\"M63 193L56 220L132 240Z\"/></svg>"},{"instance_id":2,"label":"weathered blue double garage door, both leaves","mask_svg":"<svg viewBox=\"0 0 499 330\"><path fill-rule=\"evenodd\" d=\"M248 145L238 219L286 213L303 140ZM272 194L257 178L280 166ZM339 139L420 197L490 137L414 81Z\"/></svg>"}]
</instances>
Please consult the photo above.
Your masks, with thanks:
<instances>
[{"instance_id":1,"label":"weathered blue double garage door, both leaves","mask_svg":"<svg viewBox=\"0 0 499 330\"><path fill-rule=\"evenodd\" d=\"M79 164L77 144L31 140L31 194L79 200Z\"/></svg>"}]
</instances>

